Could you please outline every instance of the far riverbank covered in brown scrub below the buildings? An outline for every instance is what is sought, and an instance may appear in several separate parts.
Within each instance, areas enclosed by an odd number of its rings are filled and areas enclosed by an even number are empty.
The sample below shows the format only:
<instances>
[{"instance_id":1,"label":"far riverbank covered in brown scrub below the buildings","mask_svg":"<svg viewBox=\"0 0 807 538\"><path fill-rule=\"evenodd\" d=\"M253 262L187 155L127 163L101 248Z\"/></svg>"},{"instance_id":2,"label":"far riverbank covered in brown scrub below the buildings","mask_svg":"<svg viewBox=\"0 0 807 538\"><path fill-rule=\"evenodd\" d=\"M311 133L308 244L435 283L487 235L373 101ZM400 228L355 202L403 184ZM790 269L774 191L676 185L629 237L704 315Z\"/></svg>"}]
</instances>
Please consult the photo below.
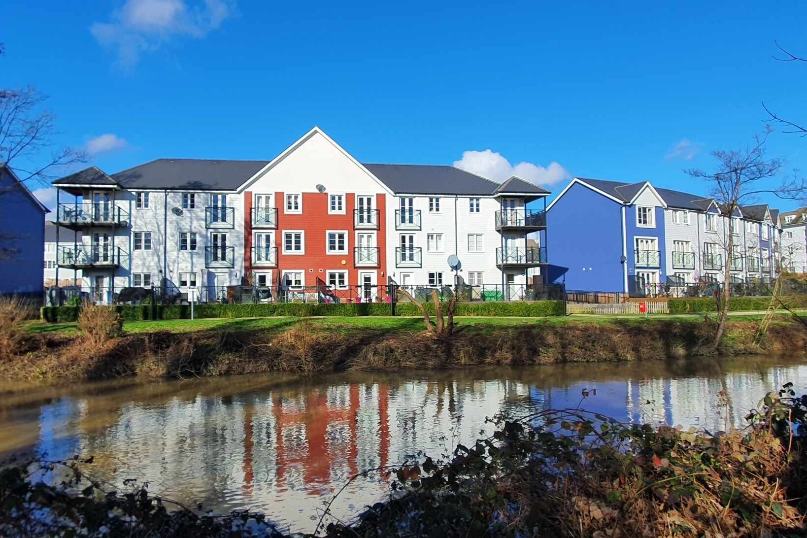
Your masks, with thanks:
<instances>
[{"instance_id":1,"label":"far riverbank covered in brown scrub below the buildings","mask_svg":"<svg viewBox=\"0 0 807 538\"><path fill-rule=\"evenodd\" d=\"M807 344L805 326L788 321L771 323L767 337L755 344L757 326L742 316L733 319L718 352L792 352ZM121 336L93 343L63 326L27 333L15 354L0 360L0 377L69 382L647 361L698 353L717 328L697 318L594 317L460 319L459 327L454 336L436 338L423 332L417 318L175 320L127 324Z\"/></svg>"}]
</instances>

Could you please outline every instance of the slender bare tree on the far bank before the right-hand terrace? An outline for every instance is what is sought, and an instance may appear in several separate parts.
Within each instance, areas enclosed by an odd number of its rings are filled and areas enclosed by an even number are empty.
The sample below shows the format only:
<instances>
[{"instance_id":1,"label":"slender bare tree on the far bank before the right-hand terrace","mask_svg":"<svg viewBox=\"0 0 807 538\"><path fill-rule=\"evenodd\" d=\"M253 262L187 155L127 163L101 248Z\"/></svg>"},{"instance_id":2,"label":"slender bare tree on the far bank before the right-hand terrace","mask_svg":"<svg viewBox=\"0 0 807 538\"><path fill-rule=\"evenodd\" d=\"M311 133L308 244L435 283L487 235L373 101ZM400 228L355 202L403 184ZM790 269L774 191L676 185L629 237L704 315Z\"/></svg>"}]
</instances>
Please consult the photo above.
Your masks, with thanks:
<instances>
[{"instance_id":1,"label":"slender bare tree on the far bank before the right-hand terrace","mask_svg":"<svg viewBox=\"0 0 807 538\"><path fill-rule=\"evenodd\" d=\"M720 296L720 323L717 334L711 345L711 350L720 345L725 331L725 322L729 315L729 300L731 280L731 261L734 257L734 214L738 207L750 204L759 194L774 194L784 199L799 199L805 196L807 187L805 181L792 177L784 181L773 181L784 167L784 161L778 157L768 157L765 152L767 137L771 128L754 137L751 144L742 148L712 152L717 159L714 172L705 172L700 169L685 170L692 177L698 177L709 183L711 194L720 206L721 214L726 222L725 240L725 266L723 269L723 293Z\"/></svg>"}]
</instances>

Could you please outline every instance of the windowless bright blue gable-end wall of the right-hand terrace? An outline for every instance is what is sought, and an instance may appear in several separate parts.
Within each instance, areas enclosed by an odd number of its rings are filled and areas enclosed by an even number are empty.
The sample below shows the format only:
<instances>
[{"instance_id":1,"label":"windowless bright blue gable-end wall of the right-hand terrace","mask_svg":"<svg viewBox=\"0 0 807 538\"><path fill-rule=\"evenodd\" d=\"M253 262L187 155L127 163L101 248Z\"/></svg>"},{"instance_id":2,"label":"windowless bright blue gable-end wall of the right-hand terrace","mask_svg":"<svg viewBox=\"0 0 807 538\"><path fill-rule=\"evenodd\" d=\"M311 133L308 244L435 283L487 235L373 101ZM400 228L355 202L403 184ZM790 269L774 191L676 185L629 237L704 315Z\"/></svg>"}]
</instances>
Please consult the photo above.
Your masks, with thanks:
<instances>
[{"instance_id":1,"label":"windowless bright blue gable-end wall of the right-hand terrace","mask_svg":"<svg viewBox=\"0 0 807 538\"><path fill-rule=\"evenodd\" d=\"M567 290L622 291L621 204L579 183L547 213L549 281Z\"/></svg>"}]
</instances>

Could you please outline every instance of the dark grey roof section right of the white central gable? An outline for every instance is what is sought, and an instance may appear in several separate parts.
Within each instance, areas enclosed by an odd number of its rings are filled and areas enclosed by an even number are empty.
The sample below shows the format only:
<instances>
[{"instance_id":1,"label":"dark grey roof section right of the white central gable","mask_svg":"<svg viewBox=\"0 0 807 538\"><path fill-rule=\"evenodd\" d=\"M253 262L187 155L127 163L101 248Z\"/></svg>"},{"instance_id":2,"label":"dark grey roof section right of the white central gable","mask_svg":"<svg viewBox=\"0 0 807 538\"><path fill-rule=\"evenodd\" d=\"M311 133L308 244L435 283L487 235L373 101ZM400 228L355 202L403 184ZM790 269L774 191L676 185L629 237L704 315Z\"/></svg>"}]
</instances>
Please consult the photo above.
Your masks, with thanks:
<instances>
[{"instance_id":1,"label":"dark grey roof section right of the white central gable","mask_svg":"<svg viewBox=\"0 0 807 538\"><path fill-rule=\"evenodd\" d=\"M479 194L490 196L499 183L448 165L363 163L396 194Z\"/></svg>"}]
</instances>

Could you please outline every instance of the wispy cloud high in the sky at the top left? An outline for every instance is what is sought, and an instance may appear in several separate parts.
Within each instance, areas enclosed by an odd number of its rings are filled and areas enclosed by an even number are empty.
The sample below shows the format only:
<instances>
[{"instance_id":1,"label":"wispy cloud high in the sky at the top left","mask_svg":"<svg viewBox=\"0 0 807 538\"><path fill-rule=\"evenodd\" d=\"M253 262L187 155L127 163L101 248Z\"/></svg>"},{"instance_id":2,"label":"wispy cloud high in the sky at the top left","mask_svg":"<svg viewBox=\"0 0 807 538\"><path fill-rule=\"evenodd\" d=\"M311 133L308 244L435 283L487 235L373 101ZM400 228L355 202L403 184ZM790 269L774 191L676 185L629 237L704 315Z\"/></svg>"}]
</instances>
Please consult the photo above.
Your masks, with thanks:
<instances>
[{"instance_id":1,"label":"wispy cloud high in the sky at the top left","mask_svg":"<svg viewBox=\"0 0 807 538\"><path fill-rule=\"evenodd\" d=\"M90 32L103 47L115 50L117 64L131 68L143 52L179 37L202 38L232 15L234 0L126 0L107 23Z\"/></svg>"}]
</instances>

